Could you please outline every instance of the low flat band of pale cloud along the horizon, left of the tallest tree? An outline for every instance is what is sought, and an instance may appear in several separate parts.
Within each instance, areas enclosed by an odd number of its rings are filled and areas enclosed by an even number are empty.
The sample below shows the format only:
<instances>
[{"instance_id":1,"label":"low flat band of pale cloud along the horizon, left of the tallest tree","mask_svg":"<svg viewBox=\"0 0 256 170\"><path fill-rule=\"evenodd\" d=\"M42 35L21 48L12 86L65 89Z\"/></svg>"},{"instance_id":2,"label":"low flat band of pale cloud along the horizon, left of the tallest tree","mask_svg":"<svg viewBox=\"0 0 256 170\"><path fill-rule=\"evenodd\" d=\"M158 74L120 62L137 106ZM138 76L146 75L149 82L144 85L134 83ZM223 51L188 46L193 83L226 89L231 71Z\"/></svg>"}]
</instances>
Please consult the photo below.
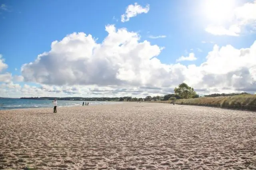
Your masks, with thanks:
<instances>
[{"instance_id":1,"label":"low flat band of pale cloud along the horizon, left of the tallest tree","mask_svg":"<svg viewBox=\"0 0 256 170\"><path fill-rule=\"evenodd\" d=\"M133 96L144 97L144 95L165 95L173 93L173 88L160 87L117 87L97 85L73 85L73 86L54 86L54 85L23 85L8 82L0 84L1 97L119 97Z\"/></svg>"}]
</instances>

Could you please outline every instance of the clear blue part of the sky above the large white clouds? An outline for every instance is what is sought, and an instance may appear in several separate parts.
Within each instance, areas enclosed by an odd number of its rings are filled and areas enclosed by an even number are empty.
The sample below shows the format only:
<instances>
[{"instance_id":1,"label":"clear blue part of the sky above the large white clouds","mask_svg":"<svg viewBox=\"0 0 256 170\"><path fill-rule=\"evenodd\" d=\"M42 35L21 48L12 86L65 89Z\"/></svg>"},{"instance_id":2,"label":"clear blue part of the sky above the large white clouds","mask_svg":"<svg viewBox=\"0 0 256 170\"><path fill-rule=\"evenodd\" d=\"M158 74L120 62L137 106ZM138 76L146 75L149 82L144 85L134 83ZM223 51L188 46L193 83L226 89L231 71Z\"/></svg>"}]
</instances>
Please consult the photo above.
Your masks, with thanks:
<instances>
[{"instance_id":1,"label":"clear blue part of the sky above the large white clouds","mask_svg":"<svg viewBox=\"0 0 256 170\"><path fill-rule=\"evenodd\" d=\"M121 22L121 15L128 5L135 2L142 7L149 4L150 10L130 18L128 22ZM246 2L253 1L239 0L236 6ZM108 35L105 31L108 24L114 24L117 29L127 28L129 32L138 32L140 42L148 40L152 45L164 47L157 58L166 64L175 64L177 58L193 52L197 60L183 61L182 64L200 66L206 61L214 44L230 44L241 49L250 47L256 40L253 33L216 36L206 32L206 27L212 21L205 17L203 0L1 0L0 3L4 4L0 9L0 54L8 64L6 71L13 75L21 75L20 67L24 63L34 62L37 55L50 51L52 42L60 41L73 32L91 34L98 38L97 43L101 43ZM150 38L160 35L166 38Z\"/></svg>"}]
</instances>

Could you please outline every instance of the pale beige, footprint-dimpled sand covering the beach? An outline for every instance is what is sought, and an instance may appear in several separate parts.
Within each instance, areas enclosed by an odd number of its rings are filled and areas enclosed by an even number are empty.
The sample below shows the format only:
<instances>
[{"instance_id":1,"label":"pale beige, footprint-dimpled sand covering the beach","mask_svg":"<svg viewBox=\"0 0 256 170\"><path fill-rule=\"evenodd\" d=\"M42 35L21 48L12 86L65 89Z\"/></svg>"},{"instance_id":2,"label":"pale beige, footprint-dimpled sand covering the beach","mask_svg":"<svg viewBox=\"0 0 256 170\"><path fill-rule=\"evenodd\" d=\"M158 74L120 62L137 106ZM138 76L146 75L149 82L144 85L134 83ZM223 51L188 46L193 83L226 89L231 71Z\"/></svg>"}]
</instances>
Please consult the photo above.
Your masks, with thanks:
<instances>
[{"instance_id":1,"label":"pale beige, footprint-dimpled sand covering the beach","mask_svg":"<svg viewBox=\"0 0 256 170\"><path fill-rule=\"evenodd\" d=\"M0 169L256 169L256 113L164 103L0 111Z\"/></svg>"}]
</instances>

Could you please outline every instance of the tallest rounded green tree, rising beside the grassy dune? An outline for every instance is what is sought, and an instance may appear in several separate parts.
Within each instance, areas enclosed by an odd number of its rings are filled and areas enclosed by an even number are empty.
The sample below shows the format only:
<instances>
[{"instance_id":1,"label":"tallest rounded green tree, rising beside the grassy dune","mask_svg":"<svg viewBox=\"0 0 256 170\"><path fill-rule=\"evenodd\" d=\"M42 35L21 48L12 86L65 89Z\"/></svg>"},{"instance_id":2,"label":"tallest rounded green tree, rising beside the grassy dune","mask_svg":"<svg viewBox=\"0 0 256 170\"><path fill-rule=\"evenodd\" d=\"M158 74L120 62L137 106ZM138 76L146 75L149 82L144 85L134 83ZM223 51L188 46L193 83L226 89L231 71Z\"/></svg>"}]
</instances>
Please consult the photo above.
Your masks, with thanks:
<instances>
[{"instance_id":1,"label":"tallest rounded green tree, rising beside the grassy dune","mask_svg":"<svg viewBox=\"0 0 256 170\"><path fill-rule=\"evenodd\" d=\"M179 84L178 88L174 89L175 95L180 96L182 99L190 99L196 96L196 92L192 87L189 87L186 83Z\"/></svg>"}]
</instances>

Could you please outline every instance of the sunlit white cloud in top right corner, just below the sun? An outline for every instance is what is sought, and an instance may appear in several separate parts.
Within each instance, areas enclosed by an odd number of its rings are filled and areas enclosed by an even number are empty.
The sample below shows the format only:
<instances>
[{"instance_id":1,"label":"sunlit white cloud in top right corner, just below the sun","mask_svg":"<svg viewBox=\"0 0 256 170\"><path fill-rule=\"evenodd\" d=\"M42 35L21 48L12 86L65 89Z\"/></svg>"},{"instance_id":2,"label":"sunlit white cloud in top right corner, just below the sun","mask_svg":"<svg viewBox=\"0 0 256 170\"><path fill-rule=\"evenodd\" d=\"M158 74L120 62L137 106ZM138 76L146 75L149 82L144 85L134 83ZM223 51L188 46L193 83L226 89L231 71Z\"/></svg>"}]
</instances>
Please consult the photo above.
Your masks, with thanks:
<instances>
[{"instance_id":1,"label":"sunlit white cloud in top right corner, just below the sun","mask_svg":"<svg viewBox=\"0 0 256 170\"><path fill-rule=\"evenodd\" d=\"M256 0L234 8L232 15L227 19L229 20L229 23L231 23L228 28L225 28L222 25L210 25L205 29L206 32L218 36L239 36L242 33L242 30L246 29L249 29L249 32L255 32Z\"/></svg>"}]
</instances>

